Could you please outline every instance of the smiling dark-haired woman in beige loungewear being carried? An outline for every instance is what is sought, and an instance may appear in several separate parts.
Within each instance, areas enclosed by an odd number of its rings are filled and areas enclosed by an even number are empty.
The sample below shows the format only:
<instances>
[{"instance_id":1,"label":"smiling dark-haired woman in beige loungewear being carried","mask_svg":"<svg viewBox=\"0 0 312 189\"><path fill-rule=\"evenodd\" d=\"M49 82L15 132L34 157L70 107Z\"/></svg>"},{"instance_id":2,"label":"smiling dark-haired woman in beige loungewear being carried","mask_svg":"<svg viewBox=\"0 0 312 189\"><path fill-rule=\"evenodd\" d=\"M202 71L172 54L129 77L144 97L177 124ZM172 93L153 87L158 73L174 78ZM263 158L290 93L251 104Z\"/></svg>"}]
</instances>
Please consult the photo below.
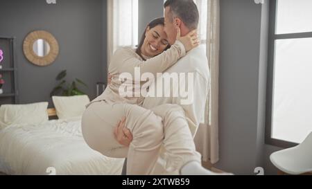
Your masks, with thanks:
<instances>
[{"instance_id":1,"label":"smiling dark-haired woman in beige loungewear being carried","mask_svg":"<svg viewBox=\"0 0 312 189\"><path fill-rule=\"evenodd\" d=\"M111 83L101 96L87 106L83 114L83 136L89 147L105 156L128 157L127 174L150 174L157 160L160 145L164 140L164 127L173 128L174 125L187 127L185 126L187 122L184 112L177 105L163 105L154 110L148 110L140 107L144 100L143 97L121 97L119 95L119 88L123 84L119 80L121 73L130 73L132 78L135 78L135 68L137 67L141 69L141 73L149 72L154 75L162 73L183 57L187 51L199 44L196 30L191 31L185 37L180 37L180 29L177 28L177 41L171 47L168 46L166 38L164 18L159 18L148 24L137 51L132 48L118 49L109 66L109 72L112 75ZM132 82L136 83L132 89L136 89L142 84L137 81ZM164 109L171 111L163 111ZM168 114L164 114L164 112L168 112ZM114 138L114 126L122 118L125 118L123 123L133 134L133 140L129 147L119 144ZM166 121L163 120L164 118ZM173 132L172 129L171 132ZM185 140L193 142L190 132L185 136ZM168 145L173 151L176 150L177 154L180 153L171 161L171 167L180 169L189 161L200 161L200 154L196 152L194 145L183 150L180 150L176 146L177 144Z\"/></svg>"}]
</instances>

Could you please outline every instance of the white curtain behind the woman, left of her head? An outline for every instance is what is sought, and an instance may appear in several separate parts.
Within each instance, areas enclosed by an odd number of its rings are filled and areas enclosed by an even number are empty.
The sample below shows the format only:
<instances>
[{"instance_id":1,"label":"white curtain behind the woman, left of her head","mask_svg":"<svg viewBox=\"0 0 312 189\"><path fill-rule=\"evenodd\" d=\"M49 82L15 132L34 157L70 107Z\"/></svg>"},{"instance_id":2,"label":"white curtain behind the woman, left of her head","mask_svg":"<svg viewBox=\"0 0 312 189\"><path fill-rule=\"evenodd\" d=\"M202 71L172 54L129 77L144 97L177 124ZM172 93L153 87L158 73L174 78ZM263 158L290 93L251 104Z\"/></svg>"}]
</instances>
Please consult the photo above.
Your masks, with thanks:
<instances>
[{"instance_id":1,"label":"white curtain behind the woman, left of her head","mask_svg":"<svg viewBox=\"0 0 312 189\"><path fill-rule=\"evenodd\" d=\"M107 66L117 48L138 43L139 0L107 0Z\"/></svg>"}]
</instances>

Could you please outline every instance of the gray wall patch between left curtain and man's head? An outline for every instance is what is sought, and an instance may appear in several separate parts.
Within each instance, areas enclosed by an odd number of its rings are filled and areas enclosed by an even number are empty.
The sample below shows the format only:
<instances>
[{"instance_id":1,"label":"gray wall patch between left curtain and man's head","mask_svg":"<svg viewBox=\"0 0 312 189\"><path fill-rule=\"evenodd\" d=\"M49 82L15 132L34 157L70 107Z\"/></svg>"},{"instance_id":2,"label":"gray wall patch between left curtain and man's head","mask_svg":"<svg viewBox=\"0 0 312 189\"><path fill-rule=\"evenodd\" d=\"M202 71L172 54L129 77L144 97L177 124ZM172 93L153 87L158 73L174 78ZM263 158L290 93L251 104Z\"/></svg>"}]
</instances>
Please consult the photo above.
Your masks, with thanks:
<instances>
[{"instance_id":1,"label":"gray wall patch between left curtain and man's head","mask_svg":"<svg viewBox=\"0 0 312 189\"><path fill-rule=\"evenodd\" d=\"M139 0L139 40L150 21L164 17L163 7L163 0Z\"/></svg>"}]
</instances>

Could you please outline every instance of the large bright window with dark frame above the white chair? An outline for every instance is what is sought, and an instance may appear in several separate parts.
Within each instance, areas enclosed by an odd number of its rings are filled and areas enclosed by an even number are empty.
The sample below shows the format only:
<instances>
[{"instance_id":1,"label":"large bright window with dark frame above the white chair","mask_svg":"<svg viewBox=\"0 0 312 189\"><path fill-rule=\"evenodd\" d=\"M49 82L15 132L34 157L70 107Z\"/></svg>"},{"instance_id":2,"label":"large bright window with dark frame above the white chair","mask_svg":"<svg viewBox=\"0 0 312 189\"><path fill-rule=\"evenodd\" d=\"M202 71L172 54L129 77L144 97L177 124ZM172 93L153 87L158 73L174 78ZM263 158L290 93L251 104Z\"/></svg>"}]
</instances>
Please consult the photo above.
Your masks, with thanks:
<instances>
[{"instance_id":1,"label":"large bright window with dark frame above the white chair","mask_svg":"<svg viewBox=\"0 0 312 189\"><path fill-rule=\"evenodd\" d=\"M312 1L270 1L266 142L302 143L312 132Z\"/></svg>"}]
</instances>

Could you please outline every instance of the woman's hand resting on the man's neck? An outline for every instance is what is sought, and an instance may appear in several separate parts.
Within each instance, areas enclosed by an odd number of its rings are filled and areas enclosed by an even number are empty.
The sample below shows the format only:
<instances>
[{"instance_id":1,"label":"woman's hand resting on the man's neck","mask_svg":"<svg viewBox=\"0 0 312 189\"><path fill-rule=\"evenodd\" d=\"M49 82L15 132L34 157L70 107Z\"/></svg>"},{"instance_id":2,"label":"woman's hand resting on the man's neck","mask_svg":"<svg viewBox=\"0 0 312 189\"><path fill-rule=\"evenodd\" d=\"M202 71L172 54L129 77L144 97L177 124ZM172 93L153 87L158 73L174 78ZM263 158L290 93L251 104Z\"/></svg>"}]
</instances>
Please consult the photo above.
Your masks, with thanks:
<instances>
[{"instance_id":1,"label":"woman's hand resting on the man's neck","mask_svg":"<svg viewBox=\"0 0 312 189\"><path fill-rule=\"evenodd\" d=\"M177 40L182 42L184 45L185 51L190 51L191 49L195 48L200 44L200 40L197 36L197 30L190 31L187 35L184 37L181 37L181 30L179 27L177 29Z\"/></svg>"}]
</instances>

